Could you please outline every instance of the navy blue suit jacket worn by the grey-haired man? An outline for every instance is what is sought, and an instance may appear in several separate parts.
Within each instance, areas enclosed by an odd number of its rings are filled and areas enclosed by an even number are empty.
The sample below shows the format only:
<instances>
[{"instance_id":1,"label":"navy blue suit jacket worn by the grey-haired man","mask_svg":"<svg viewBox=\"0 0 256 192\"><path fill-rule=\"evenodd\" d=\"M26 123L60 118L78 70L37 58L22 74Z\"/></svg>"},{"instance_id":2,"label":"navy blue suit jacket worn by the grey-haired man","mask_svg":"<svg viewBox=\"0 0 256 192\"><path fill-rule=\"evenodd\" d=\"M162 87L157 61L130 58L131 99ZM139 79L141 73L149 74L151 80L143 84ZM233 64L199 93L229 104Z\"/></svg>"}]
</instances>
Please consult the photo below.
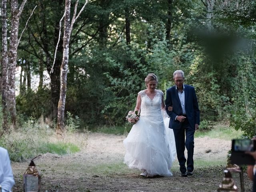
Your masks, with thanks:
<instances>
[{"instance_id":1,"label":"navy blue suit jacket worn by the grey-haired man","mask_svg":"<svg viewBox=\"0 0 256 192\"><path fill-rule=\"evenodd\" d=\"M190 126L194 129L195 124L200 123L200 111L198 108L198 101L196 97L196 91L193 86L184 84L185 92L185 110L186 116ZM170 116L169 128L179 129L181 122L175 120L176 116L182 115L182 107L180 104L180 98L178 96L178 90L176 86L172 86L166 91L166 112ZM168 106L172 106L172 111L168 111Z\"/></svg>"}]
</instances>

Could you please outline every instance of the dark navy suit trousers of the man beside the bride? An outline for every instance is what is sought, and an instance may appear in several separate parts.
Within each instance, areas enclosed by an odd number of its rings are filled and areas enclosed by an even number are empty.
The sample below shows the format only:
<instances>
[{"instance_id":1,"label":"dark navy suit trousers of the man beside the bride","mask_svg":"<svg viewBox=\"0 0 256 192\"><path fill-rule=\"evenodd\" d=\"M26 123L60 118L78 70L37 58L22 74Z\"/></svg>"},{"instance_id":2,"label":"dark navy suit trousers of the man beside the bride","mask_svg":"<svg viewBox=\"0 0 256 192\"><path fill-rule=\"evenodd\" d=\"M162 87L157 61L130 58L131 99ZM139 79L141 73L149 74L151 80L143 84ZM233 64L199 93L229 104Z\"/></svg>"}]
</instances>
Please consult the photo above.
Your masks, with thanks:
<instances>
[{"instance_id":1,"label":"dark navy suit trousers of the man beside the bride","mask_svg":"<svg viewBox=\"0 0 256 192\"><path fill-rule=\"evenodd\" d=\"M192 128L186 119L182 122L180 129L173 129L174 137L175 137L175 144L176 144L176 152L177 158L180 164L180 172L185 173L186 171L192 172L194 170L194 133L195 128ZM186 140L185 140L186 134ZM184 155L185 146L188 151L188 159ZM187 168L185 163L187 161Z\"/></svg>"}]
</instances>

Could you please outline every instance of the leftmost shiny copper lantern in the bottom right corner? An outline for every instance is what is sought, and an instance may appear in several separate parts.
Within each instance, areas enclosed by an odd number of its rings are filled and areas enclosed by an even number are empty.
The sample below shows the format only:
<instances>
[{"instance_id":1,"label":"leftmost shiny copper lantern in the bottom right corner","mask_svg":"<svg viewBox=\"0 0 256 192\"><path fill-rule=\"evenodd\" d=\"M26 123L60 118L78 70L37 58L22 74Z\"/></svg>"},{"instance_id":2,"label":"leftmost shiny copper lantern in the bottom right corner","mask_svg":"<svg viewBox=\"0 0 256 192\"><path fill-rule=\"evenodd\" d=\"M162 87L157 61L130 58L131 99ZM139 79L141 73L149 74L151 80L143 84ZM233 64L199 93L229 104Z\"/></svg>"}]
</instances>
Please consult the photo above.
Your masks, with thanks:
<instances>
[{"instance_id":1,"label":"leftmost shiny copper lantern in the bottom right corner","mask_svg":"<svg viewBox=\"0 0 256 192\"><path fill-rule=\"evenodd\" d=\"M219 188L218 192L238 192L237 186L235 185L235 182L231 176L231 173L229 170L224 170L225 177L223 178Z\"/></svg>"}]
</instances>

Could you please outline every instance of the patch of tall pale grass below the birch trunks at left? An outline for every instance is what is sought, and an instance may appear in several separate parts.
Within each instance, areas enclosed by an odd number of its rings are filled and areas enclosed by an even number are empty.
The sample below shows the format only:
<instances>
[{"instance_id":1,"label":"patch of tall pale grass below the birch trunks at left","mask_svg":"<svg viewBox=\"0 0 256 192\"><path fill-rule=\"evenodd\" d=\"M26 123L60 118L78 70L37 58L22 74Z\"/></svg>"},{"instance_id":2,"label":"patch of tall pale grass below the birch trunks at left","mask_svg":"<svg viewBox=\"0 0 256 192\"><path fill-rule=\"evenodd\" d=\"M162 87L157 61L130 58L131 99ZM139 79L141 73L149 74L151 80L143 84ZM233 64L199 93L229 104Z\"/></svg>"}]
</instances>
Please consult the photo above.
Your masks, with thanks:
<instances>
[{"instance_id":1,"label":"patch of tall pale grass below the birch trunks at left","mask_svg":"<svg viewBox=\"0 0 256 192\"><path fill-rule=\"evenodd\" d=\"M86 132L78 133L73 127L66 126L60 136L54 128L54 124L48 119L30 119L17 130L10 130L0 137L0 146L8 150L10 159L14 162L22 162L45 153L72 154L86 147Z\"/></svg>"}]
</instances>

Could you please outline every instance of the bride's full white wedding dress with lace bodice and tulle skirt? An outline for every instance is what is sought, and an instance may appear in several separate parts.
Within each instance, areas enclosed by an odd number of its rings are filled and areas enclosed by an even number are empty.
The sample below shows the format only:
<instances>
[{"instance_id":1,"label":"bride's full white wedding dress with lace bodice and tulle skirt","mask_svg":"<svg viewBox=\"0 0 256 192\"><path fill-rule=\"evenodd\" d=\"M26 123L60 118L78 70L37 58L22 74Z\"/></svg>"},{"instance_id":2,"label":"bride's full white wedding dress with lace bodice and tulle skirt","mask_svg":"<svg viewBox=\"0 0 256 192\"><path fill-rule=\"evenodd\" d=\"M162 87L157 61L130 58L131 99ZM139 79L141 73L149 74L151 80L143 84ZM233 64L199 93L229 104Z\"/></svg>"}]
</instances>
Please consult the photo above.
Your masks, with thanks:
<instances>
[{"instance_id":1,"label":"bride's full white wedding dress with lace bodice and tulle skirt","mask_svg":"<svg viewBox=\"0 0 256 192\"><path fill-rule=\"evenodd\" d=\"M170 168L176 155L174 134L168 128L166 112L164 116L161 110L163 92L156 91L153 100L145 90L138 93L141 96L140 120L124 140L124 163L129 168L146 170L151 176L172 176Z\"/></svg>"}]
</instances>

